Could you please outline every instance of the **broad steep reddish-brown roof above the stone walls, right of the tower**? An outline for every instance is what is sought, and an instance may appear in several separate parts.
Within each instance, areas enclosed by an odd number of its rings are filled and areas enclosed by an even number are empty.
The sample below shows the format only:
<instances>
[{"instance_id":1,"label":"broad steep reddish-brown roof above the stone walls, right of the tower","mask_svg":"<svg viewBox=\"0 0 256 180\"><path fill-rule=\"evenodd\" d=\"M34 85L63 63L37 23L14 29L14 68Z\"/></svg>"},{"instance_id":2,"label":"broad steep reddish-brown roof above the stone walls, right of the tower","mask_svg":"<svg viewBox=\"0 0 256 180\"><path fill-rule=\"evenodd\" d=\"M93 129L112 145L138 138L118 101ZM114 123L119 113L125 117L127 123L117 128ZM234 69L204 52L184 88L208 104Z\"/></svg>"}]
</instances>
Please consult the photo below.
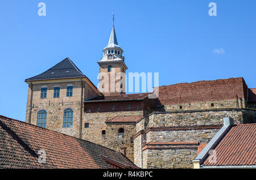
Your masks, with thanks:
<instances>
[{"instance_id":1,"label":"broad steep reddish-brown roof above the stone walls, right of the tower","mask_svg":"<svg viewBox=\"0 0 256 180\"><path fill-rule=\"evenodd\" d=\"M238 98L247 96L247 85L243 78L181 83L159 87L156 105L234 100L236 95Z\"/></svg>"}]
</instances>

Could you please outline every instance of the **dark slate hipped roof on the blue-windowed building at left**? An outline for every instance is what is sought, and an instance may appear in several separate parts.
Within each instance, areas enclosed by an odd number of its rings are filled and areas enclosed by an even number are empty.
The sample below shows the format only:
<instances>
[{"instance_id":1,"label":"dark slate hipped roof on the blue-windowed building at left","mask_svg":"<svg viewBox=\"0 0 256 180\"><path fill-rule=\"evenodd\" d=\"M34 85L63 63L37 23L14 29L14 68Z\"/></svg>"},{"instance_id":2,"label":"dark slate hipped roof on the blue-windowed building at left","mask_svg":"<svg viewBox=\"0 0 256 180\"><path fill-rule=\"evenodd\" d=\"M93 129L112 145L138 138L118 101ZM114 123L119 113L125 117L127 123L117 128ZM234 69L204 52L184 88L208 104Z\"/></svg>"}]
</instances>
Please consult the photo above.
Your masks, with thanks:
<instances>
[{"instance_id":1,"label":"dark slate hipped roof on the blue-windowed building at left","mask_svg":"<svg viewBox=\"0 0 256 180\"><path fill-rule=\"evenodd\" d=\"M57 65L49 68L47 71L28 78L25 81L30 82L33 80L46 80L46 79L63 79L63 78L84 78L86 77L79 68L69 58L57 63Z\"/></svg>"}]
</instances>

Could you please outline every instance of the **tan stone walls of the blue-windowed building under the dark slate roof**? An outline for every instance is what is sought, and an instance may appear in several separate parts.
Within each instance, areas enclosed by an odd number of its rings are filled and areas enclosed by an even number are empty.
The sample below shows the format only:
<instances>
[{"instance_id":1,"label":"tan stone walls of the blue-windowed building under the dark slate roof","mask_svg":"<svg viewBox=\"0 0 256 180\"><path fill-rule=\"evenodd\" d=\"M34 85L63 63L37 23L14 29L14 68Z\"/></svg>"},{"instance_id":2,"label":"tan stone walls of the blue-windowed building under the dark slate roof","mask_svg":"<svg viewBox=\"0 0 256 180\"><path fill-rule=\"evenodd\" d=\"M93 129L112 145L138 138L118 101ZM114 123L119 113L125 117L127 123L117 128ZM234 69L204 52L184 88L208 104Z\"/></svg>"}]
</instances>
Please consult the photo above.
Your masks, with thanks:
<instances>
[{"instance_id":1,"label":"tan stone walls of the blue-windowed building under the dark slate roof","mask_svg":"<svg viewBox=\"0 0 256 180\"><path fill-rule=\"evenodd\" d=\"M73 96L67 97L67 85L73 85ZM60 96L53 97L53 88L60 86ZM47 97L41 98L41 87L47 86ZM31 101L32 89L32 101ZM97 93L88 83L81 79L42 81L29 85L26 122L36 125L39 110L47 111L47 125L49 130L61 132L79 138L80 117L84 98L95 97ZM31 115L30 115L31 107ZM63 128L64 110L73 110L73 127Z\"/></svg>"}]
</instances>

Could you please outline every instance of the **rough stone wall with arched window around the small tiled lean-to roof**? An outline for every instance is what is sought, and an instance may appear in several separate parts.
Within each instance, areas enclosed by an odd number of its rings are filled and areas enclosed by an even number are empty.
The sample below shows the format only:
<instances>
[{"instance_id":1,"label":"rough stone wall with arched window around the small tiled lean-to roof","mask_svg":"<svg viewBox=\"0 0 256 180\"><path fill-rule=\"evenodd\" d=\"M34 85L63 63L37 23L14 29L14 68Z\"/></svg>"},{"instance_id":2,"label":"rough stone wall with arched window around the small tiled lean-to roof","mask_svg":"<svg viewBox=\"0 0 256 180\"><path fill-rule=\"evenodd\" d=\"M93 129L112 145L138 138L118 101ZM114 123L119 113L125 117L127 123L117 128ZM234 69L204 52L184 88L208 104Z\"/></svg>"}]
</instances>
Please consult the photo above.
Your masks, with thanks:
<instances>
[{"instance_id":1,"label":"rough stone wall with arched window around the small tiled lean-to roof","mask_svg":"<svg viewBox=\"0 0 256 180\"><path fill-rule=\"evenodd\" d=\"M120 145L127 148L127 157L133 160L133 136L136 133L135 123L106 123L106 120L116 115L143 114L142 110L130 112L101 112L83 113L82 116L82 139L104 145L105 147L120 150ZM85 128L85 123L89 123L89 128ZM118 138L118 129L125 129L125 138ZM102 130L106 131L102 136Z\"/></svg>"}]
</instances>

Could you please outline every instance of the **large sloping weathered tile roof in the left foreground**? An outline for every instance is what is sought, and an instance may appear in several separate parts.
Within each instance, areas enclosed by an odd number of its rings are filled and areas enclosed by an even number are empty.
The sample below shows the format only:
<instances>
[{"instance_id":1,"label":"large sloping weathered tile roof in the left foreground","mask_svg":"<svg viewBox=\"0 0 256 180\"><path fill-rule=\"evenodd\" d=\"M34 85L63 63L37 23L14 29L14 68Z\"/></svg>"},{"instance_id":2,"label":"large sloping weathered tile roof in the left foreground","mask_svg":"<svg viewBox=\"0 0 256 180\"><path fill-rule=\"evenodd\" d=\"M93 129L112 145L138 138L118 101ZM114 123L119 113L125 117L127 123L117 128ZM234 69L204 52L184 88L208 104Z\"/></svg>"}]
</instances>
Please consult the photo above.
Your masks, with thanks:
<instances>
[{"instance_id":1,"label":"large sloping weathered tile roof in the left foreground","mask_svg":"<svg viewBox=\"0 0 256 180\"><path fill-rule=\"evenodd\" d=\"M40 149L46 152L45 164L38 162ZM115 167L136 168L102 145L0 115L0 168L110 168L112 161Z\"/></svg>"}]
</instances>

